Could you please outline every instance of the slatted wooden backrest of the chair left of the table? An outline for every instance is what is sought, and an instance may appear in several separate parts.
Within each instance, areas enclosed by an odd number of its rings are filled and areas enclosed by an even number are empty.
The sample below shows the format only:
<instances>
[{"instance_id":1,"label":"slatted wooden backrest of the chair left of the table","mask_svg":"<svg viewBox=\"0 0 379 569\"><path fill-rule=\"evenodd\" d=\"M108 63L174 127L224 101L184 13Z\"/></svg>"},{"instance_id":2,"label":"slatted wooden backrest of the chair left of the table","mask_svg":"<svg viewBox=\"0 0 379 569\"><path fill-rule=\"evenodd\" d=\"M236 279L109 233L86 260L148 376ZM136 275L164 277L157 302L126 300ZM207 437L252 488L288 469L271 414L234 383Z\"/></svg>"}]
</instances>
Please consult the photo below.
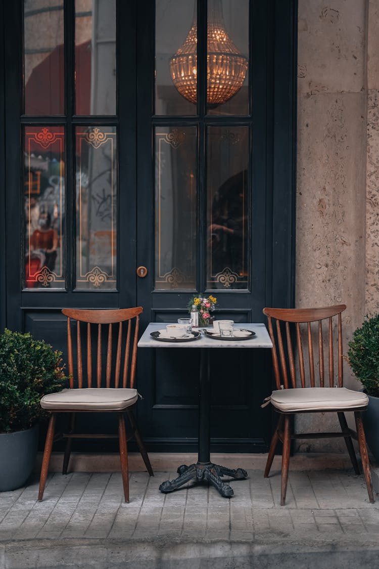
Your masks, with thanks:
<instances>
[{"instance_id":1,"label":"slatted wooden backrest of the chair left of the table","mask_svg":"<svg viewBox=\"0 0 379 569\"><path fill-rule=\"evenodd\" d=\"M70 388L74 387L74 362L73 362L73 334L71 320L76 320L76 355L77 355L77 386L78 387L101 387L102 386L102 327L107 324L107 350L105 365L105 387L134 387L136 363L137 363L137 342L139 329L139 315L143 308L119 308L117 310L80 310L77 308L64 308L63 314L67 316L67 344L68 344L68 370L70 374ZM134 332L132 331L132 322L134 321ZM125 329L123 323L127 322L126 340ZM86 323L86 343L82 348L81 341L81 323ZM97 345L95 351L91 334L91 324L97 324ZM113 324L118 324L117 349L115 358L112 354L113 344ZM132 345L131 345L132 344ZM84 357L86 352L86 358ZM122 382L120 382L121 365L122 365ZM96 358L96 381L92 381L93 357ZM84 362L86 365L84 366ZM86 368L86 373L84 371ZM114 373L112 374L112 368ZM86 385L84 385L84 376L87 376ZM111 377L114 378L111 384Z\"/></svg>"}]
</instances>

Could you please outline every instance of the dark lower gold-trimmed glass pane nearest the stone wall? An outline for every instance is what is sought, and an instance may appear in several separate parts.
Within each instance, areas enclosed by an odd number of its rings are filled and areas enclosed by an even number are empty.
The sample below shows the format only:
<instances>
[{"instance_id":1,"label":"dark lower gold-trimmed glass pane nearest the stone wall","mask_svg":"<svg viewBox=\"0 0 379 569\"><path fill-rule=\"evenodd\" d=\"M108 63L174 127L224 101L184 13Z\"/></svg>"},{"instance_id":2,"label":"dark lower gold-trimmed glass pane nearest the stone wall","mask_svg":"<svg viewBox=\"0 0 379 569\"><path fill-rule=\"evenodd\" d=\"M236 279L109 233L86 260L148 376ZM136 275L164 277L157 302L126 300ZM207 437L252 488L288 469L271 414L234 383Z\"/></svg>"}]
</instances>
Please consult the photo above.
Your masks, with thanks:
<instances>
[{"instance_id":1,"label":"dark lower gold-trimmed glass pane nearest the stone wall","mask_svg":"<svg viewBox=\"0 0 379 569\"><path fill-rule=\"evenodd\" d=\"M247 126L207 129L207 288L248 288Z\"/></svg>"}]
</instances>

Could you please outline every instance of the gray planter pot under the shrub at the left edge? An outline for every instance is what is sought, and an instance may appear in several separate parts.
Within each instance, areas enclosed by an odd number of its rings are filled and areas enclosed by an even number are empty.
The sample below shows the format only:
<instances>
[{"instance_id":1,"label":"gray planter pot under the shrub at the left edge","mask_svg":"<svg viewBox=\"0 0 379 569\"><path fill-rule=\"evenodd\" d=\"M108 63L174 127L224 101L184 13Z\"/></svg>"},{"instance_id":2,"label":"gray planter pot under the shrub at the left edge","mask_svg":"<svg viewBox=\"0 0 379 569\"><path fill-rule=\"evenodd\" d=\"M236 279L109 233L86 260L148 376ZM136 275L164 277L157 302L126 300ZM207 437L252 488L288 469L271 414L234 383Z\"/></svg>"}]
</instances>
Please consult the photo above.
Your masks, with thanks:
<instances>
[{"instance_id":1,"label":"gray planter pot under the shrub at the left edge","mask_svg":"<svg viewBox=\"0 0 379 569\"><path fill-rule=\"evenodd\" d=\"M23 486L37 456L38 424L26 431L0 434L0 492Z\"/></svg>"}]
</instances>

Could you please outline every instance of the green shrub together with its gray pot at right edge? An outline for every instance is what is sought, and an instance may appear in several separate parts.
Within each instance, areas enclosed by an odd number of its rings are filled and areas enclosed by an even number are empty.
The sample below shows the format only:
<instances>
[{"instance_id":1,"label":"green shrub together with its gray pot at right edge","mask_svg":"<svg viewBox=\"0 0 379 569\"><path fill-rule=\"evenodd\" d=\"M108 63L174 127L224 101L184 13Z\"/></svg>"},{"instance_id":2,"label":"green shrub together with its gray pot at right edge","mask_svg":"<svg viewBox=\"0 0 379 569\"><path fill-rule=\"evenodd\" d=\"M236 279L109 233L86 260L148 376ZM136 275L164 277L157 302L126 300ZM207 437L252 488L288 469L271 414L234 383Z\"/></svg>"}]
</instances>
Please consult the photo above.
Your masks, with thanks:
<instances>
[{"instance_id":1,"label":"green shrub together with its gray pot at right edge","mask_svg":"<svg viewBox=\"0 0 379 569\"><path fill-rule=\"evenodd\" d=\"M379 314L366 316L355 330L347 361L369 398L362 420L367 444L379 463Z\"/></svg>"}]
</instances>

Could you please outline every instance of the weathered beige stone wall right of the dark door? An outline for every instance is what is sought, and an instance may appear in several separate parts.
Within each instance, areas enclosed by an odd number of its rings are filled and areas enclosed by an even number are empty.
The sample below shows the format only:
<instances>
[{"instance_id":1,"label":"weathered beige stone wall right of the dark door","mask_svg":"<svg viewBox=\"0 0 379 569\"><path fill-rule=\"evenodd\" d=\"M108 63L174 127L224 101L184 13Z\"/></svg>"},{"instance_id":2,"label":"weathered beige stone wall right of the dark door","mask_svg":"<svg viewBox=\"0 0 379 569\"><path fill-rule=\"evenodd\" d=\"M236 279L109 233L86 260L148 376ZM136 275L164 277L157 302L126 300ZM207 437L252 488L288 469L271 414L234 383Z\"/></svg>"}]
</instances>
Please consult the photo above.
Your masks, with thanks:
<instances>
[{"instance_id":1,"label":"weathered beige stone wall right of the dark door","mask_svg":"<svg viewBox=\"0 0 379 569\"><path fill-rule=\"evenodd\" d=\"M379 309L378 24L379 0L299 0L296 306L347 304L344 352ZM347 364L344 374L360 386ZM333 439L299 448L345 451Z\"/></svg>"}]
</instances>

